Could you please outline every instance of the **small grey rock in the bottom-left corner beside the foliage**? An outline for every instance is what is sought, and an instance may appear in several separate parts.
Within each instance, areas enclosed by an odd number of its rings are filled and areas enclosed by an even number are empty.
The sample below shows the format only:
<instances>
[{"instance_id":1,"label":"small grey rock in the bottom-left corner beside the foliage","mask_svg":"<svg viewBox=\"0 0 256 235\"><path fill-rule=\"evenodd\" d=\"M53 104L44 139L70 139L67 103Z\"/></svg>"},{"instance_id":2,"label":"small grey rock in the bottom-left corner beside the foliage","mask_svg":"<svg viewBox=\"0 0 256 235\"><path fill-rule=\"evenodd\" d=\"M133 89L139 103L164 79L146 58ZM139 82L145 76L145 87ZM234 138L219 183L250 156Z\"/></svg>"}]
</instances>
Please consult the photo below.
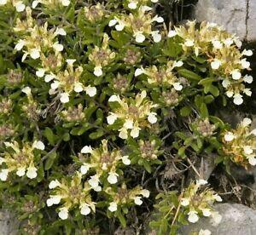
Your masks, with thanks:
<instances>
[{"instance_id":1,"label":"small grey rock in the bottom-left corner beside the foliage","mask_svg":"<svg viewBox=\"0 0 256 235\"><path fill-rule=\"evenodd\" d=\"M14 215L11 215L6 210L0 211L0 234L1 235L16 235L18 234L18 222Z\"/></svg>"}]
</instances>

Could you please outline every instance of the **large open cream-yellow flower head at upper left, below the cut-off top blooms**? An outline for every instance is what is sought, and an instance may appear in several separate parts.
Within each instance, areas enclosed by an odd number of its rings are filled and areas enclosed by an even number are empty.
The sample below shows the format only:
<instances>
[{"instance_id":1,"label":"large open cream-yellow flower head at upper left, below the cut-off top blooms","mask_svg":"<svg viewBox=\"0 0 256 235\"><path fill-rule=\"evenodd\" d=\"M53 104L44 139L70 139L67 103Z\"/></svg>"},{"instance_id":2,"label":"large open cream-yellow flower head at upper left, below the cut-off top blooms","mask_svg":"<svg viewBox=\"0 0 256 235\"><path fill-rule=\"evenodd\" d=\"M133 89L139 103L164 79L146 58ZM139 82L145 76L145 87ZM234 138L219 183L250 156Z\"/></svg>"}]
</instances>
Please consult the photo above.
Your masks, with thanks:
<instances>
[{"instance_id":1,"label":"large open cream-yellow flower head at upper left, below the cut-off top blooms","mask_svg":"<svg viewBox=\"0 0 256 235\"><path fill-rule=\"evenodd\" d=\"M16 32L22 32L23 28L15 27ZM62 28L48 30L48 23L45 22L44 26L32 26L25 29L25 35L22 39L18 41L15 45L16 50L23 49L24 54L22 56L22 61L26 60L27 55L33 60L37 60L49 50L53 51L55 54L60 53L63 50L63 45L58 42L56 37L58 35L65 36L67 33Z\"/></svg>"}]
</instances>

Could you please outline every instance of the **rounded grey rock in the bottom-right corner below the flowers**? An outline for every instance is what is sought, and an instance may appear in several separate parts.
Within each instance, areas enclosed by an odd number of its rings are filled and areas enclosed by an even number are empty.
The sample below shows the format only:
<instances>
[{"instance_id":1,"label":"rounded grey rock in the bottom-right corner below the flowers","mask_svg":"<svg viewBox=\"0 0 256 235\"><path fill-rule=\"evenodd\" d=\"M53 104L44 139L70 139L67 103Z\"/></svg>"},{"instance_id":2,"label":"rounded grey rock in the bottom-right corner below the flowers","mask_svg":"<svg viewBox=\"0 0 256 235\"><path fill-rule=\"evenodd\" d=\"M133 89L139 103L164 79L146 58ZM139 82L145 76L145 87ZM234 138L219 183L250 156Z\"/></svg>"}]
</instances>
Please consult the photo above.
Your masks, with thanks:
<instances>
[{"instance_id":1,"label":"rounded grey rock in the bottom-right corner below the flowers","mask_svg":"<svg viewBox=\"0 0 256 235\"><path fill-rule=\"evenodd\" d=\"M195 224L183 226L179 234L198 234L202 230L209 230L212 235L253 235L256 234L256 211L242 204L219 203L214 206L222 221L218 225L212 225L211 218L201 218ZM195 233L193 233L195 232Z\"/></svg>"}]
</instances>

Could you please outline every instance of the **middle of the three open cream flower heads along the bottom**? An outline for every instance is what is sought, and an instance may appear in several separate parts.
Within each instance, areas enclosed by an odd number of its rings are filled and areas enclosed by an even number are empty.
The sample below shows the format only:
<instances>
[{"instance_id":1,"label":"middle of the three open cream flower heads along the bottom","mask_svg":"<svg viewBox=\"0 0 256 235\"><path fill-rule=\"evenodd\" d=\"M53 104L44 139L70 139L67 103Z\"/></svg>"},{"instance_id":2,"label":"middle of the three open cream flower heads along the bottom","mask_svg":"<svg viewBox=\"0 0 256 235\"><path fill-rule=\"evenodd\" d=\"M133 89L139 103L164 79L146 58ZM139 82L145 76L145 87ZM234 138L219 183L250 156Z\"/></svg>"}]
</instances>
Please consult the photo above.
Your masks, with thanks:
<instances>
[{"instance_id":1,"label":"middle of the three open cream flower heads along the bottom","mask_svg":"<svg viewBox=\"0 0 256 235\"><path fill-rule=\"evenodd\" d=\"M108 206L108 210L111 212L131 203L141 205L143 203L142 198L149 197L149 191L147 189L143 189L141 186L136 186L129 190L125 184L115 190L112 187L108 187L106 192L112 198L112 202L110 202Z\"/></svg>"}]
</instances>

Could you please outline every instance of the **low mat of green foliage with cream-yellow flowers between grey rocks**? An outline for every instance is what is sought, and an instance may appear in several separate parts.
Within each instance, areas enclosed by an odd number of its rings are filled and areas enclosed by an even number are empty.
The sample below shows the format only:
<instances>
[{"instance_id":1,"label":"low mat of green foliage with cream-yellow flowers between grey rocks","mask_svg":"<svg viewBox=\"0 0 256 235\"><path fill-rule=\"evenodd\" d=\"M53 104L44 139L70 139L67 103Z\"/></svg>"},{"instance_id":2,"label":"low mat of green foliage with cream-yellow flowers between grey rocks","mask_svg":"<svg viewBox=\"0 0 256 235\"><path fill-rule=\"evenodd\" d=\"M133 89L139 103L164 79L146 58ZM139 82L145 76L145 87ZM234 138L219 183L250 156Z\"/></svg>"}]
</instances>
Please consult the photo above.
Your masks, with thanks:
<instances>
[{"instance_id":1,"label":"low mat of green foliage with cream-yellow flowers between grey rocks","mask_svg":"<svg viewBox=\"0 0 256 235\"><path fill-rule=\"evenodd\" d=\"M236 35L174 26L157 0L0 1L1 205L20 234L176 234L256 164L256 130L218 111L253 77ZM199 231L199 234L209 234Z\"/></svg>"}]
</instances>

